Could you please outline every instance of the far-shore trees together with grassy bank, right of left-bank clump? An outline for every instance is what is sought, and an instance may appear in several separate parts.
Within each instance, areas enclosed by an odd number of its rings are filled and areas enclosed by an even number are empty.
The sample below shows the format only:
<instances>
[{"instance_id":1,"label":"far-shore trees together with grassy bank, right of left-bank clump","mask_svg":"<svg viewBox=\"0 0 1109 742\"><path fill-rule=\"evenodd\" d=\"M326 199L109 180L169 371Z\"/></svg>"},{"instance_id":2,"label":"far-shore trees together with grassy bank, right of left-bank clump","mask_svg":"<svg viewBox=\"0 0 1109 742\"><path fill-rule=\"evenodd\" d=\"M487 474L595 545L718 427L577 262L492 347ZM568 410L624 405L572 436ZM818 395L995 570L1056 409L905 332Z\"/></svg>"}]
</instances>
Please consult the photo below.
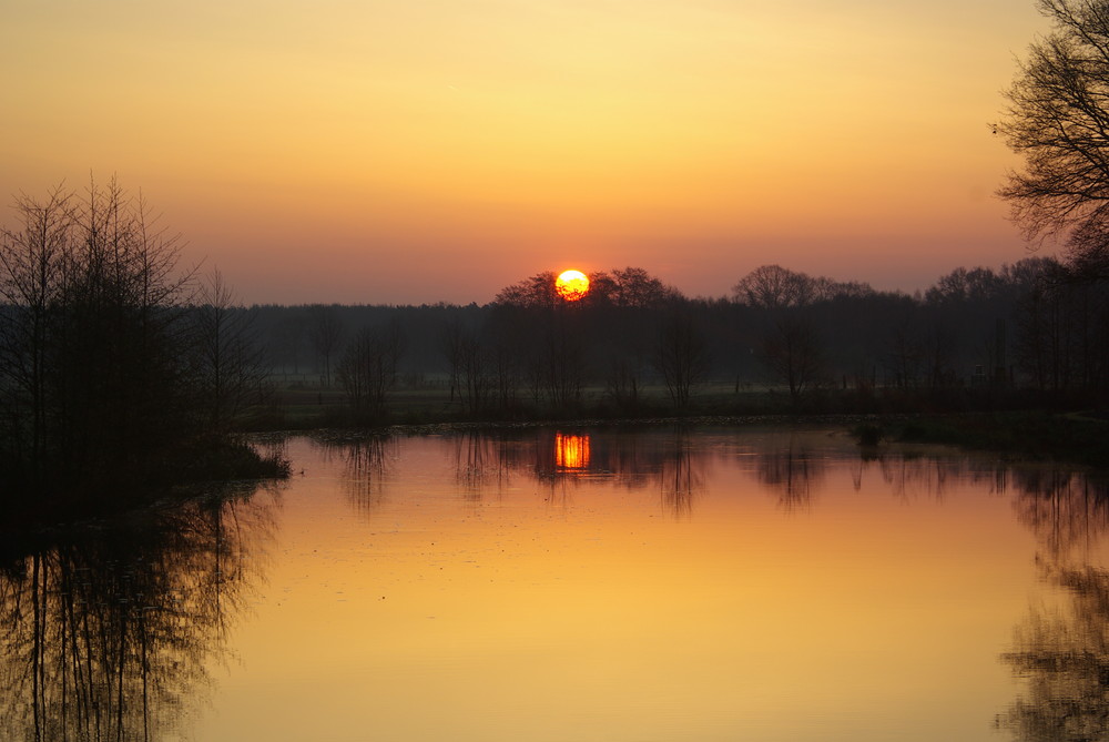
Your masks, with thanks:
<instances>
[{"instance_id":1,"label":"far-shore trees together with grassy bank, right of left-bank clump","mask_svg":"<svg viewBox=\"0 0 1109 742\"><path fill-rule=\"evenodd\" d=\"M930 421L889 424L883 437L1109 460L1103 426L1072 415L1105 405L1109 292L1064 261L959 267L914 295L773 265L714 299L624 268L594 274L568 304L552 279L537 274L484 306L244 308L268 338L274 388L244 424L909 416ZM328 356L360 358L373 408L353 404Z\"/></svg>"}]
</instances>

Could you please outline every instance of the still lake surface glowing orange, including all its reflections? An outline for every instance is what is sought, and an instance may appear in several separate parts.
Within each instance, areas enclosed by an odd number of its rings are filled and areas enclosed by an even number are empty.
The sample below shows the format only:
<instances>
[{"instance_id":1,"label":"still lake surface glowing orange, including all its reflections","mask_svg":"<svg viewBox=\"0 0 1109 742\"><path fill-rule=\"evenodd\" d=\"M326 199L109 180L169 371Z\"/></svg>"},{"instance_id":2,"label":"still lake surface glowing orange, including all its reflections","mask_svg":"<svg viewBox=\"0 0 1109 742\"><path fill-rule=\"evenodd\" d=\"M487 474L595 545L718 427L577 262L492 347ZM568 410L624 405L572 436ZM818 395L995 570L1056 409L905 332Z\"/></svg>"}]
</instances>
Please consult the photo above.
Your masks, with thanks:
<instances>
[{"instance_id":1,"label":"still lake surface glowing orange, including all its reflections","mask_svg":"<svg viewBox=\"0 0 1109 742\"><path fill-rule=\"evenodd\" d=\"M0 565L0 739L1109 734L1109 498L1071 470L818 429L279 446L288 482Z\"/></svg>"}]
</instances>

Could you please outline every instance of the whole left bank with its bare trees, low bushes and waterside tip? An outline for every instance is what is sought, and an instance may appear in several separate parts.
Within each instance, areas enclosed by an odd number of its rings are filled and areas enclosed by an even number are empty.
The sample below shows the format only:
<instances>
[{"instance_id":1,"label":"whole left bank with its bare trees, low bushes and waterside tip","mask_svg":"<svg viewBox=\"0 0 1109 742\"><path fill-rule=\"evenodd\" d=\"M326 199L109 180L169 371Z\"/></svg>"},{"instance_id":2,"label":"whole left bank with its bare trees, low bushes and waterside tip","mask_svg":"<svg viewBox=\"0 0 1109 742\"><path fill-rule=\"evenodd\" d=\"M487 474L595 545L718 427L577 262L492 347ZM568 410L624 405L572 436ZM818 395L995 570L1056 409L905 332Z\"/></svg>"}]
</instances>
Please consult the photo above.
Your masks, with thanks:
<instances>
[{"instance_id":1,"label":"whole left bank with its bare trees, low bushes and waterside tip","mask_svg":"<svg viewBox=\"0 0 1109 742\"><path fill-rule=\"evenodd\" d=\"M123 507L183 480L279 475L236 440L256 404L248 335L217 274L114 182L17 201L0 233L0 507L50 517ZM238 386L235 386L238 384ZM245 384L245 386L244 386Z\"/></svg>"}]
</instances>

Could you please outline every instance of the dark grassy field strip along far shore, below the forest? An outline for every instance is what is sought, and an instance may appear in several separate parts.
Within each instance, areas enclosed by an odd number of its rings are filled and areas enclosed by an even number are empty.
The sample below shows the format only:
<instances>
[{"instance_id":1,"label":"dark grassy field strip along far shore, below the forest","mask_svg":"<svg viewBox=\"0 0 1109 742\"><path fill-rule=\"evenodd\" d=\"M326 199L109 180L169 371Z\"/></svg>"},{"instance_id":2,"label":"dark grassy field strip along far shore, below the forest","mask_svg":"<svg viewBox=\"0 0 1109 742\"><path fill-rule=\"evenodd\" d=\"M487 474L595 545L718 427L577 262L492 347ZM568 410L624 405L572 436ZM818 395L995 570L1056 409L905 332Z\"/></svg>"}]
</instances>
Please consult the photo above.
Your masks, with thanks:
<instances>
[{"instance_id":1,"label":"dark grassy field strip along far shore, below the forest","mask_svg":"<svg viewBox=\"0 0 1109 742\"><path fill-rule=\"evenodd\" d=\"M1044 406L1015 390L948 390L944 395L897 389L869 393L823 389L793 404L784 389L705 384L678 410L662 385L639 389L634 408L618 408L603 387L583 389L572 409L554 410L522 396L510 408L472 413L446 384L423 383L391 393L381 419L355 424L343 393L303 382L277 388L271 404L246 420L251 430L355 427L386 429L423 425L500 424L742 424L752 419L790 424L842 424L861 441L936 443L995 450L1019 458L1109 467L1109 416L1065 406Z\"/></svg>"}]
</instances>

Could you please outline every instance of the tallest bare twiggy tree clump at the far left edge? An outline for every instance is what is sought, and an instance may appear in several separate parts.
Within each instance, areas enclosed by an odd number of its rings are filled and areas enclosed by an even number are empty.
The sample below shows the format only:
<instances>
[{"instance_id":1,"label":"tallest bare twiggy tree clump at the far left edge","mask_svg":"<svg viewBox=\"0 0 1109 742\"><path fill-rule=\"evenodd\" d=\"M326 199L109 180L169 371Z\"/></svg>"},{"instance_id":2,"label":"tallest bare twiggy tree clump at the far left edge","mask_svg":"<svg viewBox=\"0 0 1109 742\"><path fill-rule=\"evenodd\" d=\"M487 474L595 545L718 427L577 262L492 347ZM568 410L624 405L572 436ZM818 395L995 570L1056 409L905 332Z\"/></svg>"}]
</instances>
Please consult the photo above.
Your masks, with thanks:
<instances>
[{"instance_id":1,"label":"tallest bare twiggy tree clump at the far left edge","mask_svg":"<svg viewBox=\"0 0 1109 742\"><path fill-rule=\"evenodd\" d=\"M82 487L141 477L196 423L179 240L114 181L16 211L21 228L0 238L6 472Z\"/></svg>"}]
</instances>

